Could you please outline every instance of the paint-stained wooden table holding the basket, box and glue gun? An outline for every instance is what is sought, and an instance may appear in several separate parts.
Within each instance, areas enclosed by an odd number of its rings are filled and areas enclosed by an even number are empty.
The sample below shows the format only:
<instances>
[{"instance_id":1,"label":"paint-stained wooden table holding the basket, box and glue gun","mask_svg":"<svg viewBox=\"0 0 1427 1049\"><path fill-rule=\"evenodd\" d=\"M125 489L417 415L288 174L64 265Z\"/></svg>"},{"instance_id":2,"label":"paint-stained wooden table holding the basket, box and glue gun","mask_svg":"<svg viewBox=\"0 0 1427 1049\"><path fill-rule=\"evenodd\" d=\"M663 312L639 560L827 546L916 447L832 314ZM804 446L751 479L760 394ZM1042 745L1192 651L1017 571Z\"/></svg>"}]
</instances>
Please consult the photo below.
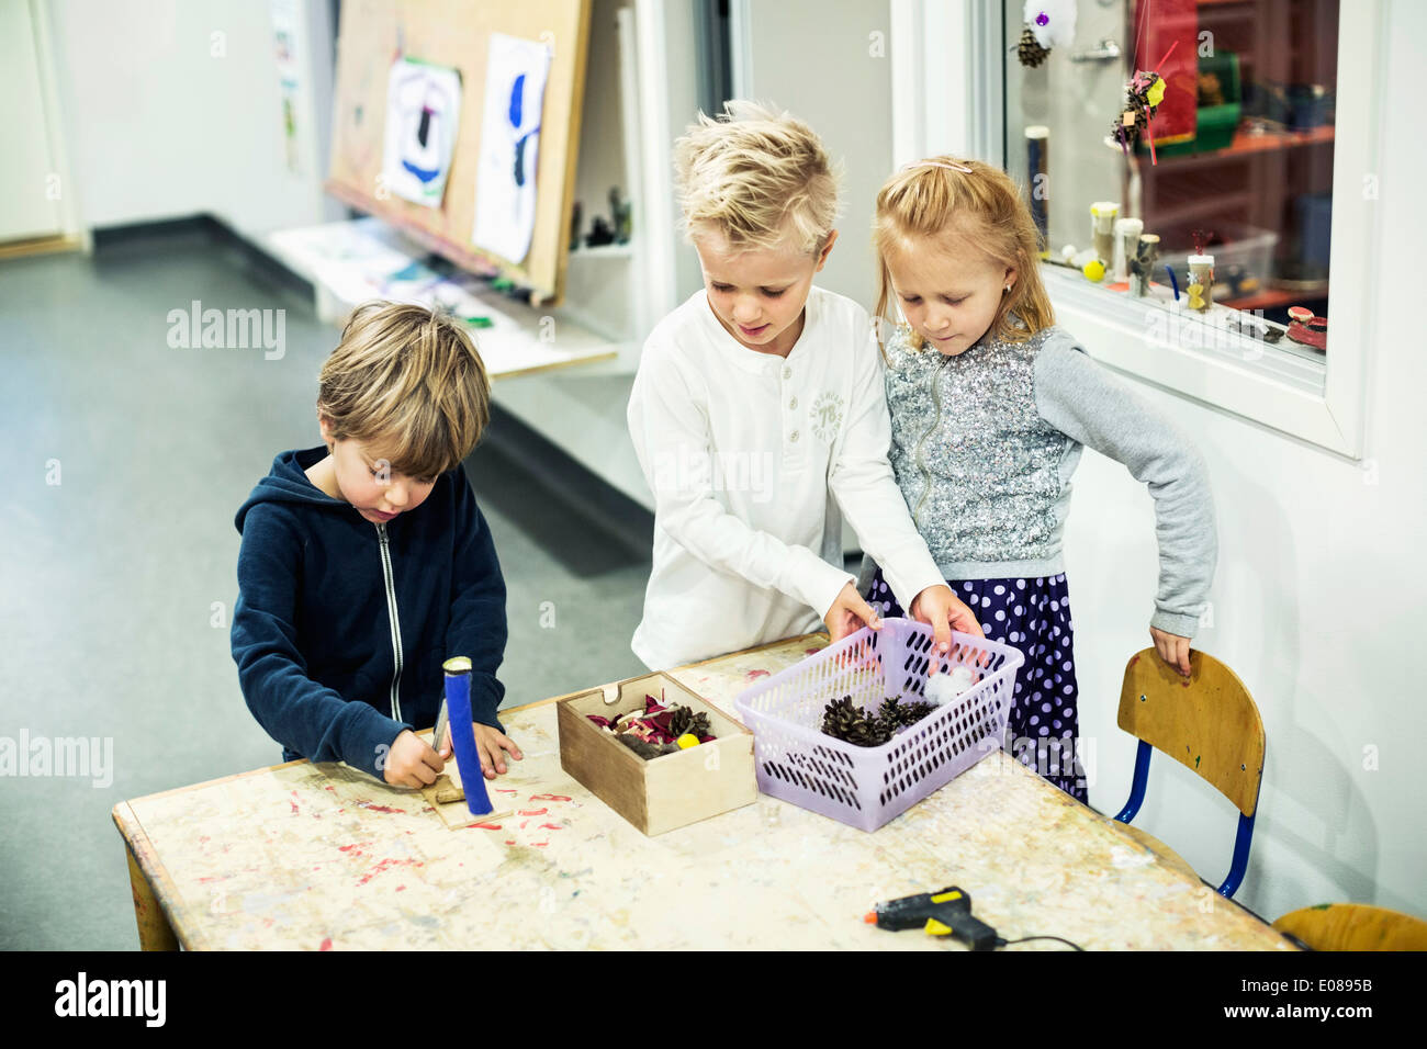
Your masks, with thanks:
<instances>
[{"instance_id":1,"label":"paint-stained wooden table holding the basket, box and glue gun","mask_svg":"<svg viewBox=\"0 0 1427 1049\"><path fill-rule=\"evenodd\" d=\"M723 711L825 644L793 638L675 671ZM997 752L865 833L759 795L645 838L559 766L554 701L501 712L525 754L447 829L415 791L288 762L114 806L146 949L946 949L862 922L879 899L960 885L1006 939L1086 949L1289 949ZM959 945L953 945L959 946ZM1016 946L1065 949L1053 941Z\"/></svg>"}]
</instances>

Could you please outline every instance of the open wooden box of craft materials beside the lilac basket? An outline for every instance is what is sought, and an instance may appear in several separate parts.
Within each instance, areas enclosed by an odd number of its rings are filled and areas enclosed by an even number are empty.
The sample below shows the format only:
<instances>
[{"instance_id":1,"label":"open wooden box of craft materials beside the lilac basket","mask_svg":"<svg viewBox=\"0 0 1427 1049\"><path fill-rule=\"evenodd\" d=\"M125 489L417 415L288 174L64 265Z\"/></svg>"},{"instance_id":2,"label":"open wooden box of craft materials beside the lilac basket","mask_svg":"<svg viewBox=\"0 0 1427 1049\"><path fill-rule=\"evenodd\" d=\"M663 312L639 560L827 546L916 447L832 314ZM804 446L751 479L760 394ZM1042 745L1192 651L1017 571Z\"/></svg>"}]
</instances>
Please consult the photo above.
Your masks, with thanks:
<instances>
[{"instance_id":1,"label":"open wooden box of craft materials beside the lilac basket","mask_svg":"<svg viewBox=\"0 0 1427 1049\"><path fill-rule=\"evenodd\" d=\"M666 706L708 714L715 739L646 761L586 716L612 721L642 711L645 695ZM646 835L696 824L758 798L753 734L665 674L579 692L561 699L557 714L561 768Z\"/></svg>"}]
</instances>

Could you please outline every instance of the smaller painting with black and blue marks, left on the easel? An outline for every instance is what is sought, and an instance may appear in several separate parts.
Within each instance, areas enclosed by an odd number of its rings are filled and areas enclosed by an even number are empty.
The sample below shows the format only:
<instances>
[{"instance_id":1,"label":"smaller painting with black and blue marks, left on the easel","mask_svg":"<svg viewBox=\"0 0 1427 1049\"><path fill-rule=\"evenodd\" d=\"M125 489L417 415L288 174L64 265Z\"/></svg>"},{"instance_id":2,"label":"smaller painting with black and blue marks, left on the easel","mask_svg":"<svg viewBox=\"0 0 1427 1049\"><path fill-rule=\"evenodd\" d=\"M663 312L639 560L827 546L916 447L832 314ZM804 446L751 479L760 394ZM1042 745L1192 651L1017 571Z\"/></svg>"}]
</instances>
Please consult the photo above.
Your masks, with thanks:
<instances>
[{"instance_id":1,"label":"smaller painting with black and blue marks, left on the easel","mask_svg":"<svg viewBox=\"0 0 1427 1049\"><path fill-rule=\"evenodd\" d=\"M405 200L441 207L461 117L461 74L401 59L387 81L387 136L381 174Z\"/></svg>"}]
</instances>

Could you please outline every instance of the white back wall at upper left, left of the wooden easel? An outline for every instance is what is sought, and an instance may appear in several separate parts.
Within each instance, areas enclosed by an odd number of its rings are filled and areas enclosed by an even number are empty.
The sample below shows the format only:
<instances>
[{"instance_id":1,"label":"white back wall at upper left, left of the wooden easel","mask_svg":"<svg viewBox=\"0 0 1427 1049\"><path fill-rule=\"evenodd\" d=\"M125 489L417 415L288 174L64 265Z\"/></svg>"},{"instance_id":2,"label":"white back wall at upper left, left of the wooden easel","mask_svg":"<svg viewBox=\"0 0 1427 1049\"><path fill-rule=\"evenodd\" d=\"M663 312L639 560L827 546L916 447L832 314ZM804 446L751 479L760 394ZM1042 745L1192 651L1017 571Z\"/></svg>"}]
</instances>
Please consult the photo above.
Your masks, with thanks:
<instances>
[{"instance_id":1,"label":"white back wall at upper left, left of the wooden easel","mask_svg":"<svg viewBox=\"0 0 1427 1049\"><path fill-rule=\"evenodd\" d=\"M53 0L64 137L86 225L208 211L257 238L340 217L321 193L330 114L315 104L331 97L327 4L298 6L307 39L293 173L267 3Z\"/></svg>"}]
</instances>

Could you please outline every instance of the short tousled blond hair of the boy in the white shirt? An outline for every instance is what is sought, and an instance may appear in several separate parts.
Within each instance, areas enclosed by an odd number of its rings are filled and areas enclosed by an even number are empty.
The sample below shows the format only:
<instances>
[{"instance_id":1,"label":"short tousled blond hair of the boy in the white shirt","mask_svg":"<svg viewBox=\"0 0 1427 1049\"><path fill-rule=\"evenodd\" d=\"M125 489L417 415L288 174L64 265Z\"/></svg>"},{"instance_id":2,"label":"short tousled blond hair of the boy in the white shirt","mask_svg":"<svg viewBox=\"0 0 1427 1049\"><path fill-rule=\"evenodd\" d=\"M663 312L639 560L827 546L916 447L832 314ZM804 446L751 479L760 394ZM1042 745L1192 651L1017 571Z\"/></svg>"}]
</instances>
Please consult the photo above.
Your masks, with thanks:
<instances>
[{"instance_id":1,"label":"short tousled blond hair of the boy in the white shirt","mask_svg":"<svg viewBox=\"0 0 1427 1049\"><path fill-rule=\"evenodd\" d=\"M719 118L699 113L674 144L685 234L712 227L733 250L792 237L818 254L838 223L838 171L822 140L769 106L733 100Z\"/></svg>"}]
</instances>

